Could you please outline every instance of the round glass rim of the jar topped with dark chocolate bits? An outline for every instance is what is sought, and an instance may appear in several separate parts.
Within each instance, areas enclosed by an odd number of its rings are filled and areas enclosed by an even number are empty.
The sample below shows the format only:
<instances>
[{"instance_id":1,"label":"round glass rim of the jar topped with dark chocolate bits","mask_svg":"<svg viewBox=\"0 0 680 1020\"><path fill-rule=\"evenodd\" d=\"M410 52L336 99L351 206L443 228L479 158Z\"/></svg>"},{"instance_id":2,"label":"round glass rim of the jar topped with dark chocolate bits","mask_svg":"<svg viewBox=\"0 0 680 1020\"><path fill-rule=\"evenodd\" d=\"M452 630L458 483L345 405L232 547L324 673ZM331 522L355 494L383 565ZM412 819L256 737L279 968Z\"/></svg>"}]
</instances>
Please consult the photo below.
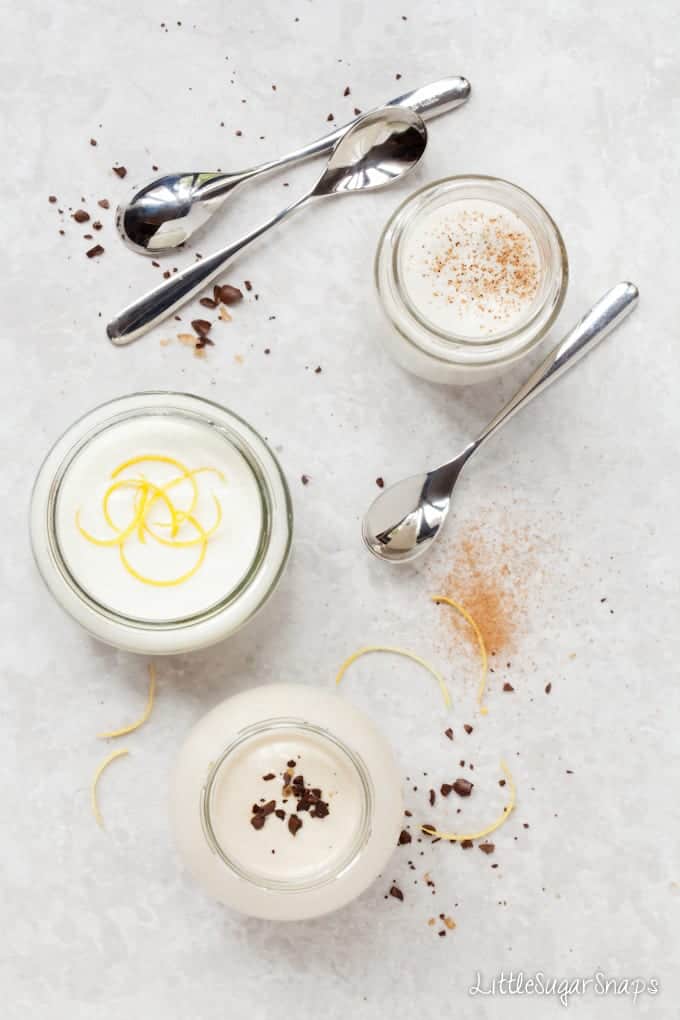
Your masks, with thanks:
<instances>
[{"instance_id":1,"label":"round glass rim of the jar topped with dark chocolate bits","mask_svg":"<svg viewBox=\"0 0 680 1020\"><path fill-rule=\"evenodd\" d=\"M250 870L240 865L233 860L233 857L229 857L219 843L212 821L215 784L229 755L233 754L253 737L259 736L263 733L285 730L302 730L304 733L311 733L314 736L321 737L322 740L332 744L356 771L357 776L359 777L360 789L363 795L360 822L347 852L341 857L339 861L334 866L326 869L319 869L312 877L301 879L300 881L296 881L295 879L269 878L257 871ZM212 763L210 771L206 777L205 785L201 790L201 826L210 850L213 854L217 855L221 862L238 878L241 878L261 889L271 889L278 892L311 891L313 889L322 888L324 885L338 879L343 874L345 874L345 872L348 871L349 868L352 867L354 862L362 853L371 833L374 800L375 794L370 773L363 759L356 751L353 751L352 748L350 748L335 733L331 733L330 730L323 726L295 716L280 716L271 719L264 719L251 726L246 726L237 734L237 736Z\"/></svg>"}]
</instances>

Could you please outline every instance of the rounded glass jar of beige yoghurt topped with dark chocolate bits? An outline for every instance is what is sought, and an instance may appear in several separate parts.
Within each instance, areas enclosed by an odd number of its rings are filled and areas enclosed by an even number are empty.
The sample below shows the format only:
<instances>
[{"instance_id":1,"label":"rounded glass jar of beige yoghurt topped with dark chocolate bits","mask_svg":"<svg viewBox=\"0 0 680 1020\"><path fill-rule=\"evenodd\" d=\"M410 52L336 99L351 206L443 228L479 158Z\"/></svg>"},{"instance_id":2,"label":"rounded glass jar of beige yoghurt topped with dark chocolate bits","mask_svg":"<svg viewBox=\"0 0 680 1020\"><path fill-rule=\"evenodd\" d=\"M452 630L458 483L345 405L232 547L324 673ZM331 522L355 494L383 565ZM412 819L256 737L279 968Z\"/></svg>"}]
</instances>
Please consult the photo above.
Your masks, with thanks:
<instances>
[{"instance_id":1,"label":"rounded glass jar of beige yoghurt topped with dark chocolate bits","mask_svg":"<svg viewBox=\"0 0 680 1020\"><path fill-rule=\"evenodd\" d=\"M296 794L298 779L316 787L322 817ZM404 806L391 750L362 713L335 693L280 683L236 695L196 724L171 816L187 867L212 897L292 921L345 906L378 876Z\"/></svg>"}]
</instances>

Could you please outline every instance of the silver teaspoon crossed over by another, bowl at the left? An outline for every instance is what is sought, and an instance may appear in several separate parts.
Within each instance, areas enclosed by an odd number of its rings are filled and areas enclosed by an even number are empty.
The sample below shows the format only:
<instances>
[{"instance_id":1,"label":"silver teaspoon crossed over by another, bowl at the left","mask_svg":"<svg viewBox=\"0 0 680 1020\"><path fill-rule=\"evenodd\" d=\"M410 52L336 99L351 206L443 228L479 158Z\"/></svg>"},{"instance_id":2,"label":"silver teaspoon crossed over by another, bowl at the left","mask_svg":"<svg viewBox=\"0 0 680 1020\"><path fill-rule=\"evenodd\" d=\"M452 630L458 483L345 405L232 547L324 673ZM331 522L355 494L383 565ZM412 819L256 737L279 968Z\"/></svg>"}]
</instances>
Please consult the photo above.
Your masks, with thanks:
<instances>
[{"instance_id":1,"label":"silver teaspoon crossed over by another, bowl at the left","mask_svg":"<svg viewBox=\"0 0 680 1020\"><path fill-rule=\"evenodd\" d=\"M461 106L469 95L470 83L467 79L444 78L398 96L385 105L406 107L429 119ZM189 171L157 177L118 207L118 232L134 251L146 255L172 251L204 226L239 185L310 156L330 152L354 123L356 121L353 120L343 124L280 159L272 159L237 173Z\"/></svg>"}]
</instances>

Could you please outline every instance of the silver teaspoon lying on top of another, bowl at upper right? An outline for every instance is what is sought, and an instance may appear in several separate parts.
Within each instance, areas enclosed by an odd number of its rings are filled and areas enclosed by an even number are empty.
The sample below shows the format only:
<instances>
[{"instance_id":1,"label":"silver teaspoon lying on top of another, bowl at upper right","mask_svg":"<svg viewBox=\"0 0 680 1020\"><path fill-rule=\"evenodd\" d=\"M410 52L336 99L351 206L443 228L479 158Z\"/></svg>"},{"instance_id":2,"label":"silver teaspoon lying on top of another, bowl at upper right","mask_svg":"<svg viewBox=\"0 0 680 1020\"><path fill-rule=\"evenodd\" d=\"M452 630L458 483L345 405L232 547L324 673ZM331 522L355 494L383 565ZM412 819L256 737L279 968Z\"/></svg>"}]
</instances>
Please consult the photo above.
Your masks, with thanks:
<instances>
[{"instance_id":1,"label":"silver teaspoon lying on top of another, bowl at upper right","mask_svg":"<svg viewBox=\"0 0 680 1020\"><path fill-rule=\"evenodd\" d=\"M109 340L114 344L137 340L201 291L237 252L303 205L331 195L384 188L400 180L418 163L426 145L427 129L413 110L385 107L360 117L341 138L310 192L239 241L133 302L107 325Z\"/></svg>"}]
</instances>

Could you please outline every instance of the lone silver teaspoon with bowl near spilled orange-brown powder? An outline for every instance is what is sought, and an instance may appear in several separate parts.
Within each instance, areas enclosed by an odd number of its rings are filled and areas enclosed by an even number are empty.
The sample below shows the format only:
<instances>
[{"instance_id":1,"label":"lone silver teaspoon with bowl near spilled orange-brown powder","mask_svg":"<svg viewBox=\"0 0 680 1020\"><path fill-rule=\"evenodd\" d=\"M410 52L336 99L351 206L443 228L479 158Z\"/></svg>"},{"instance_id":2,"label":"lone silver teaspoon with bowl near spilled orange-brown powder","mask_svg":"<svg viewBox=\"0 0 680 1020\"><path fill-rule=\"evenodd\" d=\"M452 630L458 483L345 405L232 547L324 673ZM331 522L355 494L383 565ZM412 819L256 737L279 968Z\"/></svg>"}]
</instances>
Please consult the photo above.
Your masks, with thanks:
<instances>
[{"instance_id":1,"label":"lone silver teaspoon with bowl near spilled orange-brown powder","mask_svg":"<svg viewBox=\"0 0 680 1020\"><path fill-rule=\"evenodd\" d=\"M363 520L364 542L369 550L380 559L396 563L414 560L429 549L447 519L454 487L471 455L520 408L604 340L633 310L637 298L634 284L613 287L457 457L433 471L404 478L380 493Z\"/></svg>"}]
</instances>

